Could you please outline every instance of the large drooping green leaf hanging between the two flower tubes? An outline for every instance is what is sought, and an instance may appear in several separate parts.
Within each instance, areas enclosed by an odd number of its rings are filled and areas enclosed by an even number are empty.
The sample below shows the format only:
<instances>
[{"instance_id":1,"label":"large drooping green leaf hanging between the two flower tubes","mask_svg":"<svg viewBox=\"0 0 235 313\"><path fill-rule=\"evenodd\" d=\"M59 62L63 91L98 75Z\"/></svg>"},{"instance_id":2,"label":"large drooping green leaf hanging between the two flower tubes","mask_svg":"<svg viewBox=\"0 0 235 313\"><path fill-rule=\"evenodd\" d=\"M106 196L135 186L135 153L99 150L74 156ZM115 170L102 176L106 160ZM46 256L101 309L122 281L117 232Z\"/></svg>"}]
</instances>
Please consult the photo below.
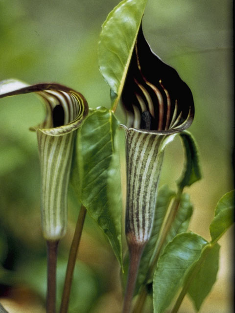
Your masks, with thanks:
<instances>
[{"instance_id":1,"label":"large drooping green leaf hanging between the two flower tubes","mask_svg":"<svg viewBox=\"0 0 235 313\"><path fill-rule=\"evenodd\" d=\"M110 174L117 173L116 164L112 161L117 128L118 121L111 111L100 108L90 113L78 132L72 186L107 236L121 264L121 205L114 205L115 201L111 201L113 187L109 184ZM119 197L120 183L118 178L113 179L117 182L116 194Z\"/></svg>"}]
</instances>

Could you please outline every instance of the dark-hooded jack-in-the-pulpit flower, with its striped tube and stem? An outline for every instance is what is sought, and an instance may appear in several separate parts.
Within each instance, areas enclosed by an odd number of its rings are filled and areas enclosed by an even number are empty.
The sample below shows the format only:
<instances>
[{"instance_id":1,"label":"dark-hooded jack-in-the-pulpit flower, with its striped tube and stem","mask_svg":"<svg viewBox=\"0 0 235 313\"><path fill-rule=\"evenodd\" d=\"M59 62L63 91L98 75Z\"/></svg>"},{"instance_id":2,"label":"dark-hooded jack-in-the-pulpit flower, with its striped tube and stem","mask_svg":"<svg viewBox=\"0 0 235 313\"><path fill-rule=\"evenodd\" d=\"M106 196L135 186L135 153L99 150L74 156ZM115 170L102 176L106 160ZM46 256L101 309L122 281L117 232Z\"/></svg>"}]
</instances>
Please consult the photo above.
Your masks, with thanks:
<instances>
[{"instance_id":1,"label":"dark-hooded jack-in-the-pulpit flower, with its striped tube and stem","mask_svg":"<svg viewBox=\"0 0 235 313\"><path fill-rule=\"evenodd\" d=\"M164 147L193 120L190 89L153 53L140 27L122 91L127 115L127 199L125 233L130 269L123 312L130 310L136 272L155 213Z\"/></svg>"}]
</instances>

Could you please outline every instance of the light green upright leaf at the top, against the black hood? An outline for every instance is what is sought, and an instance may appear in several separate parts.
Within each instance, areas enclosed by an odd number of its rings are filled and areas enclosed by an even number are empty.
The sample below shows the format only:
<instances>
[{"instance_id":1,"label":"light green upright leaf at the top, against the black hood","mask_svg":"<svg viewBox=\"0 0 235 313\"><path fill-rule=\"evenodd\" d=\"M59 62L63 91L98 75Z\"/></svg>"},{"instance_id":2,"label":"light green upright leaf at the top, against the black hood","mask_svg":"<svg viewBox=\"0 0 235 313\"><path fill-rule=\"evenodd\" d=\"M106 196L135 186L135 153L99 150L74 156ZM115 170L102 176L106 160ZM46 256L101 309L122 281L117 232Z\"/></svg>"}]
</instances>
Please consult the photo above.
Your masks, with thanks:
<instances>
[{"instance_id":1,"label":"light green upright leaf at the top, against the black hood","mask_svg":"<svg viewBox=\"0 0 235 313\"><path fill-rule=\"evenodd\" d=\"M99 70L117 106L147 0L123 0L102 25L98 44Z\"/></svg>"}]
</instances>

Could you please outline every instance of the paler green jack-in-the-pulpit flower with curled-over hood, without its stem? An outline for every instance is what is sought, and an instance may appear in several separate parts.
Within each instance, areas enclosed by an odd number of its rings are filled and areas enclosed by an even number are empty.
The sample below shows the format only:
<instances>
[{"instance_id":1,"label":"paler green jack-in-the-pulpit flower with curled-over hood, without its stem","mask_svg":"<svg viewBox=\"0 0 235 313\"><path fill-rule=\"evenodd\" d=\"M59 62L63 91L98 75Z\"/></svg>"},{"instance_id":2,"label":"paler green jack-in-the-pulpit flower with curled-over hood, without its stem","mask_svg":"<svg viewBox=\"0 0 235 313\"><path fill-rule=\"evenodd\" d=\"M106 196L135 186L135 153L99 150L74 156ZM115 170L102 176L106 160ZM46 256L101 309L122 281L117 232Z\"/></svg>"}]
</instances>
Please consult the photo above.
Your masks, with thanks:
<instances>
[{"instance_id":1,"label":"paler green jack-in-the-pulpit flower with curled-over hood, without its stem","mask_svg":"<svg viewBox=\"0 0 235 313\"><path fill-rule=\"evenodd\" d=\"M57 241L66 232L67 193L75 130L88 114L83 95L59 84L27 85L0 82L0 98L35 92L46 104L46 118L36 131L41 165L41 219L46 240Z\"/></svg>"}]
</instances>

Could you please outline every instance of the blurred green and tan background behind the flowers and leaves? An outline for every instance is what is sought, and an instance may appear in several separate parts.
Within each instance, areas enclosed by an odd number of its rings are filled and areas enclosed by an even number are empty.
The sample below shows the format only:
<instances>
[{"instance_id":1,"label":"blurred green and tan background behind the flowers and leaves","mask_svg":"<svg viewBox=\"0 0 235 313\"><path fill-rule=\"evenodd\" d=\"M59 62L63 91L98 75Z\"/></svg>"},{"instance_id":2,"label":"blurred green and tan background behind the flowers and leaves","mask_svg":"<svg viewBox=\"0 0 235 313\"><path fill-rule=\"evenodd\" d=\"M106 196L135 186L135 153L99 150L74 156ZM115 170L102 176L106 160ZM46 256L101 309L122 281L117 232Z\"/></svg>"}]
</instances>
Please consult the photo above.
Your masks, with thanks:
<instances>
[{"instance_id":1,"label":"blurred green and tan background behind the flowers and leaves","mask_svg":"<svg viewBox=\"0 0 235 313\"><path fill-rule=\"evenodd\" d=\"M92 108L109 107L109 88L98 71L96 51L101 24L118 2L0 0L0 80L57 82L80 91ZM152 49L177 69L194 96L190 131L199 146L203 179L189 191L194 204L189 228L209 240L216 202L233 189L232 1L148 0L143 30ZM36 135L28 131L43 118L44 108L34 95L0 100L0 302L10 313L44 312L40 169ZM175 186L182 160L177 139L167 148L161 184ZM59 281L79 208L72 192L69 204ZM233 312L232 230L219 243L218 280L201 313ZM71 312L120 312L118 263L89 217L79 260ZM193 312L188 299L180 312Z\"/></svg>"}]
</instances>

